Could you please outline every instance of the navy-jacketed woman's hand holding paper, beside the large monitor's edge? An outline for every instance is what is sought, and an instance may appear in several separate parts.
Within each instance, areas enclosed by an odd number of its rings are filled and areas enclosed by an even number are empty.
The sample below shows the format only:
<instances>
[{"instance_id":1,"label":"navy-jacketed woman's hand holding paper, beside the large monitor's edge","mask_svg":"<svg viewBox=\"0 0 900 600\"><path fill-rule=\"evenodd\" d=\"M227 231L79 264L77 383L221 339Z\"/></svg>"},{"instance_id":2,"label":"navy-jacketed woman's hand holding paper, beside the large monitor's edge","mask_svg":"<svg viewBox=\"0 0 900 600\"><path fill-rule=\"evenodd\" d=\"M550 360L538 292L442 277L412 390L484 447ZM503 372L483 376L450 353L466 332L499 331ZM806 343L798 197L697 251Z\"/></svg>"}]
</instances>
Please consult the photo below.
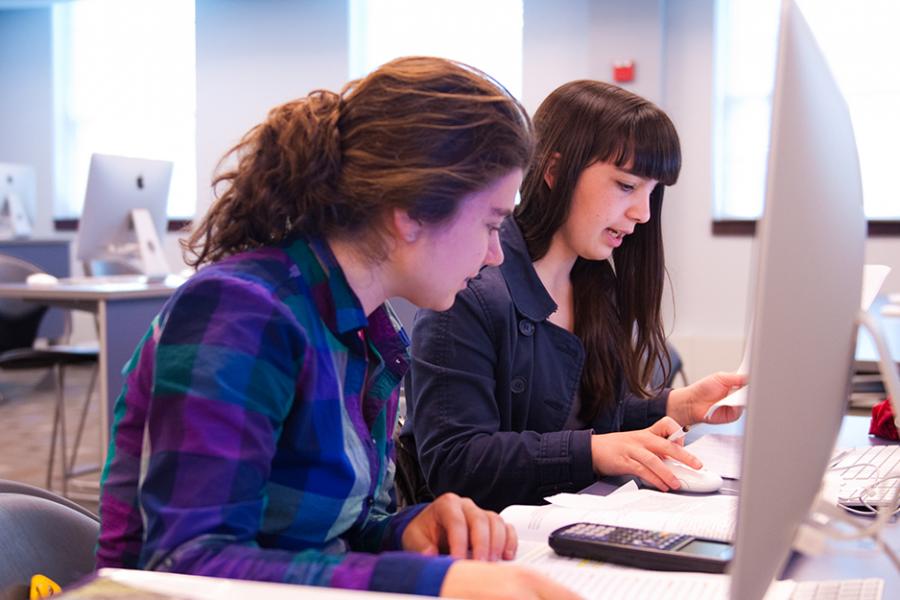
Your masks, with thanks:
<instances>
[{"instance_id":1,"label":"navy-jacketed woman's hand holding paper, beside the large monitor's edge","mask_svg":"<svg viewBox=\"0 0 900 600\"><path fill-rule=\"evenodd\" d=\"M707 422L713 424L730 423L740 418L743 409L739 406L722 406L706 420L709 407L747 385L747 376L739 373L714 373L689 386L674 389L669 393L666 415L681 425Z\"/></svg>"}]
</instances>

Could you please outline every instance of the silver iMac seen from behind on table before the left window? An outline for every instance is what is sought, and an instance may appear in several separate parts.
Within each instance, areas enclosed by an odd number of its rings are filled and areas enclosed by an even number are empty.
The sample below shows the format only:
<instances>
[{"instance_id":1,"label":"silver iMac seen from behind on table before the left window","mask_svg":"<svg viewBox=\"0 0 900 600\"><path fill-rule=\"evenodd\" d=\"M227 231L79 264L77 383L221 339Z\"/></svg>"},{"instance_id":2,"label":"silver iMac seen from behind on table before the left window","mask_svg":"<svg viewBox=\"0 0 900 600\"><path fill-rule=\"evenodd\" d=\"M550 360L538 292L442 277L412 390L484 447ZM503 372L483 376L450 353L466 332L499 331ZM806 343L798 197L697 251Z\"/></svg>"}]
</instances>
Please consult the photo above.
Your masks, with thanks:
<instances>
[{"instance_id":1,"label":"silver iMac seen from behind on table before the left window","mask_svg":"<svg viewBox=\"0 0 900 600\"><path fill-rule=\"evenodd\" d=\"M107 154L91 156L84 211L78 225L77 258L132 262L146 275L169 272L160 239L172 163Z\"/></svg>"}]
</instances>

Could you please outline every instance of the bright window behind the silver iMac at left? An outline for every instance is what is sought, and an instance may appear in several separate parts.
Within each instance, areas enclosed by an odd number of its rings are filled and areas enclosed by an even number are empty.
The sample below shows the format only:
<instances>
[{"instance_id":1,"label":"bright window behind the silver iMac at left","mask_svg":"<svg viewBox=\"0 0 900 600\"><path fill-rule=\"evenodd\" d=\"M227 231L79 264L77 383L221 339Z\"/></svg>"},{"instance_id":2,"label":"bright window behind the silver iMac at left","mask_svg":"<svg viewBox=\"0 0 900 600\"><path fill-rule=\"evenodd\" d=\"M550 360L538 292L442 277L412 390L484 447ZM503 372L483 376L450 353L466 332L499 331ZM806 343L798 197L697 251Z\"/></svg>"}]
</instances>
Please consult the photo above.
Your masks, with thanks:
<instances>
[{"instance_id":1,"label":"bright window behind the silver iMac at left","mask_svg":"<svg viewBox=\"0 0 900 600\"><path fill-rule=\"evenodd\" d=\"M92 153L174 163L169 216L196 205L194 2L80 0L53 7L54 216L77 218Z\"/></svg>"}]
</instances>

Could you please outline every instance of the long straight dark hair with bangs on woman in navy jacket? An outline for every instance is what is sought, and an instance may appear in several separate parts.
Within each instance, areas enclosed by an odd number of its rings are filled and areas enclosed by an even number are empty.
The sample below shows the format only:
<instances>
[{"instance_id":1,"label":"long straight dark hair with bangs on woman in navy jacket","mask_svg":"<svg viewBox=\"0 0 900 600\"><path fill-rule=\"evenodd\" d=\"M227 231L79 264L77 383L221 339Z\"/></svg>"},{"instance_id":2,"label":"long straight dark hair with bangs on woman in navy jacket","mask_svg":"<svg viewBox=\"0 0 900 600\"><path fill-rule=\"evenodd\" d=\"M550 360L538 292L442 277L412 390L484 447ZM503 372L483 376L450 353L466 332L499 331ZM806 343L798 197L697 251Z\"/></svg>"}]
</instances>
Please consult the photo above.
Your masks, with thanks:
<instances>
[{"instance_id":1,"label":"long straight dark hair with bangs on woman in navy jacket","mask_svg":"<svg viewBox=\"0 0 900 600\"><path fill-rule=\"evenodd\" d=\"M568 218L575 184L588 166L611 163L659 182L650 194L650 220L624 238L611 260L579 257L572 268L575 334L585 347L579 417L591 422L614 400L619 384L648 397L656 366L664 372L671 368L660 316L665 279L661 208L664 186L678 179L681 148L662 110L599 81L557 88L535 113L534 127L535 161L515 212L533 261L547 253ZM551 189L544 173L556 153Z\"/></svg>"}]
</instances>

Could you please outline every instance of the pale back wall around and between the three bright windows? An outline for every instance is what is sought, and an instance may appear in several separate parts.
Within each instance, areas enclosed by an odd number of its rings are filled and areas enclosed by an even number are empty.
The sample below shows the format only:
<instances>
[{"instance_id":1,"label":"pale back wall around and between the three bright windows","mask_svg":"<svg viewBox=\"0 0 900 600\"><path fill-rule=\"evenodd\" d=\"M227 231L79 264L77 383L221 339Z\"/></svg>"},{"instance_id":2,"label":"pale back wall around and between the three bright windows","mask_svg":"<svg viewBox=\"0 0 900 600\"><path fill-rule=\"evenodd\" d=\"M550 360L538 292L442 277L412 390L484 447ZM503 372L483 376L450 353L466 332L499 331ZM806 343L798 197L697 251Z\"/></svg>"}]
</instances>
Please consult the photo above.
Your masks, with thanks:
<instances>
[{"instance_id":1,"label":"pale back wall around and between the three bright windows","mask_svg":"<svg viewBox=\"0 0 900 600\"><path fill-rule=\"evenodd\" d=\"M713 8L713 0L525 0L524 13L529 110L565 81L609 80L613 62L632 59L637 77L630 89L659 103L678 127L683 169L663 214L674 299L665 314L694 379L734 368L740 358L752 247L750 238L710 231ZM197 0L198 211L211 200L219 158L269 108L345 83L347 30L345 2ZM0 10L0 160L38 166L45 232L51 73L49 9ZM166 237L173 265L180 260L176 237ZM900 239L870 240L867 260L891 265L885 289L900 291Z\"/></svg>"}]
</instances>

